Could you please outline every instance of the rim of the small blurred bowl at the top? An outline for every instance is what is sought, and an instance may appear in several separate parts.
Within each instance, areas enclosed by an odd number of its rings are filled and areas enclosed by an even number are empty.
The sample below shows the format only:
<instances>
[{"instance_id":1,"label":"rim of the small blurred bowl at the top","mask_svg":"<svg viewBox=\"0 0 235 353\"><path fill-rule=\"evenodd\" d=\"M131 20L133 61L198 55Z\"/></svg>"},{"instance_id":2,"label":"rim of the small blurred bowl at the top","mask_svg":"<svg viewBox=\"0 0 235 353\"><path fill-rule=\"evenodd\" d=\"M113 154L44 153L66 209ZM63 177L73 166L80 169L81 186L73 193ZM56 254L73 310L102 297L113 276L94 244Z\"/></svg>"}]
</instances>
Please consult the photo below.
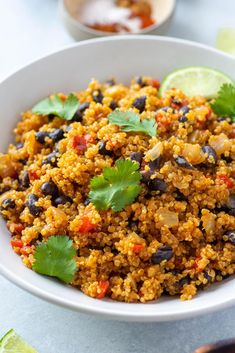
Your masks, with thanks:
<instances>
[{"instance_id":1,"label":"rim of the small blurred bowl at the top","mask_svg":"<svg viewBox=\"0 0 235 353\"><path fill-rule=\"evenodd\" d=\"M133 34L127 34L127 35L140 35L140 34L146 34L146 33L150 33L158 28L160 28L164 23L166 23L174 14L175 9L176 9L176 0L171 0L172 1L172 6L170 11L168 12L167 16L160 20L157 23L152 24L151 26L148 26L144 29L141 29L138 32L134 32ZM69 21L71 21L71 23L73 24L73 26L77 27L77 29L79 31L83 31L86 32L87 34L93 35L93 36L121 36L122 34L120 33L113 33L113 32L108 32L108 31L100 31L97 29L93 29L91 27L86 26L85 24L83 24L82 22L76 20L68 11L65 1L64 0L59 0L58 3L58 8L59 8L59 12L65 16L67 16L67 18L69 19Z\"/></svg>"}]
</instances>

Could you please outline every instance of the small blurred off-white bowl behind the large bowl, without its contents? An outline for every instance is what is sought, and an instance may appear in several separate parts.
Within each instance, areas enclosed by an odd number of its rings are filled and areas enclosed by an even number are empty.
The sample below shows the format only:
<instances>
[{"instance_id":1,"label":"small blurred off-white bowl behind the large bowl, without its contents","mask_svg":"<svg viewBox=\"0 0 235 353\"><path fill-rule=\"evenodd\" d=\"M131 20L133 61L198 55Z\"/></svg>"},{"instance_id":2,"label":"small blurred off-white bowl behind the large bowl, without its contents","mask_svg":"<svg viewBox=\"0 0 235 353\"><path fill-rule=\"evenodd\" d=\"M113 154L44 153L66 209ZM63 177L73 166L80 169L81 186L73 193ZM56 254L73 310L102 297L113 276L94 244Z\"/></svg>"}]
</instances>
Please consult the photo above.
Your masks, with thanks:
<instances>
[{"instance_id":1,"label":"small blurred off-white bowl behind the large bowl, without its contents","mask_svg":"<svg viewBox=\"0 0 235 353\"><path fill-rule=\"evenodd\" d=\"M74 39L83 40L94 37L120 35L119 33L97 31L81 23L75 17L74 13L76 11L75 9L79 8L83 1L84 0L59 0L59 14L65 27ZM153 18L156 24L140 30L138 34L165 34L169 28L175 10L176 0L152 0L151 4L153 8Z\"/></svg>"}]
</instances>

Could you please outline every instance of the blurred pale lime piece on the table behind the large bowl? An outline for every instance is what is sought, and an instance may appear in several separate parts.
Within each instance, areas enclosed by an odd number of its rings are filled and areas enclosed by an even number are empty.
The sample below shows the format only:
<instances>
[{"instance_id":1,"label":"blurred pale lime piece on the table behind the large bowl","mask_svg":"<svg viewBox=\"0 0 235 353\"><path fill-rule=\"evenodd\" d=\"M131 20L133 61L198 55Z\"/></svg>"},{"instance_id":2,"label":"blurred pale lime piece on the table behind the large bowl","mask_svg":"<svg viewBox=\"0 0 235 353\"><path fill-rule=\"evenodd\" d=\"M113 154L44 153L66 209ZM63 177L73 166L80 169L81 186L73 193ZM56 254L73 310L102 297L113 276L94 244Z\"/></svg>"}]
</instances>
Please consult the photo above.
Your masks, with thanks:
<instances>
[{"instance_id":1,"label":"blurred pale lime piece on the table behind the large bowl","mask_svg":"<svg viewBox=\"0 0 235 353\"><path fill-rule=\"evenodd\" d=\"M221 28L219 30L216 48L235 55L235 28Z\"/></svg>"}]
</instances>

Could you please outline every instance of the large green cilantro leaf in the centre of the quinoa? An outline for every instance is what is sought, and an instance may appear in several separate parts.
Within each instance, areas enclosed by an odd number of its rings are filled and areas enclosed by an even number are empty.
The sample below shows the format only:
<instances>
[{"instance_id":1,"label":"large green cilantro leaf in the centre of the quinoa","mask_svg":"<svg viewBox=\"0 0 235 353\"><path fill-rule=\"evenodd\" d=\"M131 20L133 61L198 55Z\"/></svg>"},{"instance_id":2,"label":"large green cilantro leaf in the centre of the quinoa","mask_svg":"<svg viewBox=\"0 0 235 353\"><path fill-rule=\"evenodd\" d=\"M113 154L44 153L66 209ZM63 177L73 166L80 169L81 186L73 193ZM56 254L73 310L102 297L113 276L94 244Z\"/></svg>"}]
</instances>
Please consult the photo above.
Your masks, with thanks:
<instances>
[{"instance_id":1,"label":"large green cilantro leaf in the centre of the quinoa","mask_svg":"<svg viewBox=\"0 0 235 353\"><path fill-rule=\"evenodd\" d=\"M97 210L121 211L139 195L141 174L139 165L130 160L118 160L113 168L91 180L89 198Z\"/></svg>"}]
</instances>

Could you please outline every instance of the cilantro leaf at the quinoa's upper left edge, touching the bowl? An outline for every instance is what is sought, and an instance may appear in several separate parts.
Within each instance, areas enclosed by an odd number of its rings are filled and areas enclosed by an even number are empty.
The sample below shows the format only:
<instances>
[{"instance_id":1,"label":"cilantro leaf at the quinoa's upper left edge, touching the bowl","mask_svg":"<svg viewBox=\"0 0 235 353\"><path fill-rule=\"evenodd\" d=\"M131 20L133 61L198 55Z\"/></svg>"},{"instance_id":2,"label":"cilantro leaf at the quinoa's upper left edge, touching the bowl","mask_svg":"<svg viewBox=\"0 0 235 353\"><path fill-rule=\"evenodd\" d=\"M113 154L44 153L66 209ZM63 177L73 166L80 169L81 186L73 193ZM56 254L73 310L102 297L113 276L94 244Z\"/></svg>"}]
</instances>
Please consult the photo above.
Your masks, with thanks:
<instances>
[{"instance_id":1,"label":"cilantro leaf at the quinoa's upper left edge, touching the bowl","mask_svg":"<svg viewBox=\"0 0 235 353\"><path fill-rule=\"evenodd\" d=\"M79 101L77 97L70 93L65 102L57 95L52 98L46 98L36 104L32 112L41 115L54 114L62 119L72 120L78 107Z\"/></svg>"}]
</instances>

